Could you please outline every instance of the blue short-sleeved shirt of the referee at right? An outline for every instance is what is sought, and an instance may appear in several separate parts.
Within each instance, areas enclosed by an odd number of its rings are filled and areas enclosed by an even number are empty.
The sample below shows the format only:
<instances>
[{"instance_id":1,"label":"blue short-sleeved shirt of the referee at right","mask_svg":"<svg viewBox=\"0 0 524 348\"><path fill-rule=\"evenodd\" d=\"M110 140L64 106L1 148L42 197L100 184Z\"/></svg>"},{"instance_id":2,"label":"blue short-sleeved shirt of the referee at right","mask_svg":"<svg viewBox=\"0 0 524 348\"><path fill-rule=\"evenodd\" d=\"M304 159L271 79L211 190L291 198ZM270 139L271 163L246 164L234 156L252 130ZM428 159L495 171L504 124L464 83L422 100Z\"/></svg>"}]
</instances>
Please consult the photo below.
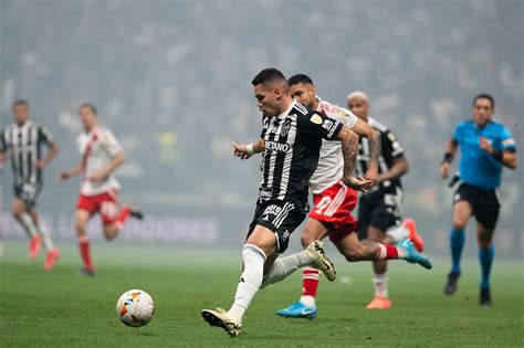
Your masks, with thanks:
<instances>
[{"instance_id":1,"label":"blue short-sleeved shirt of the referee at right","mask_svg":"<svg viewBox=\"0 0 524 348\"><path fill-rule=\"evenodd\" d=\"M460 178L463 182L484 190L501 184L502 164L481 149L481 138L491 141L495 150L515 149L515 140L506 126L490 122L480 127L473 120L457 125L453 140L460 146Z\"/></svg>"}]
</instances>

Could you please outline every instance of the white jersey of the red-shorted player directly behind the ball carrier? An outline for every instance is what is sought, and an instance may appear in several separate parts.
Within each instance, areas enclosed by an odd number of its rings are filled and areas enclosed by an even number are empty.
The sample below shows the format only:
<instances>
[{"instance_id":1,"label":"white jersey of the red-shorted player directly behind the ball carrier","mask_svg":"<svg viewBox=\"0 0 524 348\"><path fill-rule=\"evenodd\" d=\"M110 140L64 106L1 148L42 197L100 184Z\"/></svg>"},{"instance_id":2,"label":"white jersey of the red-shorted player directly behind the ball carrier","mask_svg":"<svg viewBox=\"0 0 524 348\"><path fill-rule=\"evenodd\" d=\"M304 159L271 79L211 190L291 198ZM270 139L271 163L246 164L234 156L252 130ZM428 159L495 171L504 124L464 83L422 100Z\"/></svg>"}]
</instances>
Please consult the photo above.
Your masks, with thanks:
<instances>
[{"instance_id":1,"label":"white jersey of the red-shorted player directly behind the ball carrier","mask_svg":"<svg viewBox=\"0 0 524 348\"><path fill-rule=\"evenodd\" d=\"M350 110L329 104L318 96L317 112L329 118L334 118L343 125L353 128L357 123L357 116ZM334 183L342 180L344 171L344 157L342 154L340 141L322 140L321 157L313 177L310 179L310 188L313 194L318 194Z\"/></svg>"}]
</instances>

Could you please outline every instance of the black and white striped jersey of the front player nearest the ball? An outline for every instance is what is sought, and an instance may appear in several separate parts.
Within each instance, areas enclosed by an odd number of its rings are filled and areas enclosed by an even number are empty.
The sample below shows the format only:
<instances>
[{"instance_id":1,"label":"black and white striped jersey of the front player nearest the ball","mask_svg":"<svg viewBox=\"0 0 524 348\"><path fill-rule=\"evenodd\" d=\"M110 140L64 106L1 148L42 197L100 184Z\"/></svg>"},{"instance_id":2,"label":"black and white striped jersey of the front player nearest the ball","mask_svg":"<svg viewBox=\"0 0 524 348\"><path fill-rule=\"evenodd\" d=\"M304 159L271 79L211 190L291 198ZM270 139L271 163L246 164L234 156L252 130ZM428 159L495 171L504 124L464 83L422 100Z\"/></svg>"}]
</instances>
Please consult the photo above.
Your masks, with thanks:
<instances>
[{"instance_id":1,"label":"black and white striped jersey of the front player nearest the ball","mask_svg":"<svg viewBox=\"0 0 524 348\"><path fill-rule=\"evenodd\" d=\"M264 116L262 123L265 148L259 199L290 200L303 209L322 139L335 140L343 125L296 102L282 115Z\"/></svg>"}]
</instances>

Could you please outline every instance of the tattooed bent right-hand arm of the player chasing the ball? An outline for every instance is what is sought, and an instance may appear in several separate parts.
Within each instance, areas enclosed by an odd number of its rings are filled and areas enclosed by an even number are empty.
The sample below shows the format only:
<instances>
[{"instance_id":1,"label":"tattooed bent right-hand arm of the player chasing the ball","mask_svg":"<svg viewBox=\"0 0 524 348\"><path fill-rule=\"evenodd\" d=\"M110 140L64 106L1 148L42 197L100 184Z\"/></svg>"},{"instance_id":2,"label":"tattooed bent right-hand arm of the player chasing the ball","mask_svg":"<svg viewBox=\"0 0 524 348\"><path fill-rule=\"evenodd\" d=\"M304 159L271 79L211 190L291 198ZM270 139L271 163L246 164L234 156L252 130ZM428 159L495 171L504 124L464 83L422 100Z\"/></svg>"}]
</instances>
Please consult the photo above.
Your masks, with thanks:
<instances>
[{"instance_id":1,"label":"tattooed bent right-hand arm of the player chasing the ball","mask_svg":"<svg viewBox=\"0 0 524 348\"><path fill-rule=\"evenodd\" d=\"M342 152L344 156L343 182L347 187L363 192L368 191L373 186L371 180L365 178L354 178L355 162L357 160L358 135L348 127L344 126L338 133L338 140L342 143Z\"/></svg>"}]
</instances>

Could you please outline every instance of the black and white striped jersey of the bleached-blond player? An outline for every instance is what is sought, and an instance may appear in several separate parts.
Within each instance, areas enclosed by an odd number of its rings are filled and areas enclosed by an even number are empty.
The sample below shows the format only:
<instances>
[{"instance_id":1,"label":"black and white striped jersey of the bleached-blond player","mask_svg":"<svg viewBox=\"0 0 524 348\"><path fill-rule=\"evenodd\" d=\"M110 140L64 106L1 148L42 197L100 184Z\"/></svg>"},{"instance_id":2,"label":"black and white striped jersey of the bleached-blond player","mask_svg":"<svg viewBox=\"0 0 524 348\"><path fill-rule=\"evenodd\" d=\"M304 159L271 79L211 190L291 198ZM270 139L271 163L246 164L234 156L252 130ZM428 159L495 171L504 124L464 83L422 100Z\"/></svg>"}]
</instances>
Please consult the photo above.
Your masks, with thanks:
<instances>
[{"instance_id":1,"label":"black and white striped jersey of the bleached-blond player","mask_svg":"<svg viewBox=\"0 0 524 348\"><path fill-rule=\"evenodd\" d=\"M395 134L388 127L379 123L373 117L368 117L368 124L380 134L381 150L378 158L378 173L382 173L392 167L396 158L404 155L404 149L398 143ZM358 139L358 156L355 173L364 176L367 171L367 164L369 161L369 141L367 138L359 137ZM389 188L395 192L396 188L401 188L400 179L385 180L380 186L376 186L373 190L389 191Z\"/></svg>"}]
</instances>

